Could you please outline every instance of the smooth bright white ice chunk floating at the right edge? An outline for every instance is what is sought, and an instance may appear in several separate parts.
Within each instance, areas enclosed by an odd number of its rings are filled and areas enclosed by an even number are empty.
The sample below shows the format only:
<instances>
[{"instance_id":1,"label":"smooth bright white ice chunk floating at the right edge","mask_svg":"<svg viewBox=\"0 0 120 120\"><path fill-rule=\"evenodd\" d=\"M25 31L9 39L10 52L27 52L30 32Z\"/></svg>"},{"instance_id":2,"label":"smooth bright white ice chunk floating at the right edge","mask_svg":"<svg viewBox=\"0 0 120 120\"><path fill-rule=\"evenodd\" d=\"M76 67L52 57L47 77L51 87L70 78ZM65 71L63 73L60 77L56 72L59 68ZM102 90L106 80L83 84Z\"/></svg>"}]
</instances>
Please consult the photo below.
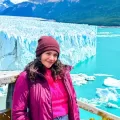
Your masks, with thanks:
<instances>
[{"instance_id":1,"label":"smooth bright white ice chunk floating at the right edge","mask_svg":"<svg viewBox=\"0 0 120 120\"><path fill-rule=\"evenodd\" d=\"M120 89L120 80L117 80L117 79L111 78L111 77L107 77L104 80L104 85Z\"/></svg>"}]
</instances>

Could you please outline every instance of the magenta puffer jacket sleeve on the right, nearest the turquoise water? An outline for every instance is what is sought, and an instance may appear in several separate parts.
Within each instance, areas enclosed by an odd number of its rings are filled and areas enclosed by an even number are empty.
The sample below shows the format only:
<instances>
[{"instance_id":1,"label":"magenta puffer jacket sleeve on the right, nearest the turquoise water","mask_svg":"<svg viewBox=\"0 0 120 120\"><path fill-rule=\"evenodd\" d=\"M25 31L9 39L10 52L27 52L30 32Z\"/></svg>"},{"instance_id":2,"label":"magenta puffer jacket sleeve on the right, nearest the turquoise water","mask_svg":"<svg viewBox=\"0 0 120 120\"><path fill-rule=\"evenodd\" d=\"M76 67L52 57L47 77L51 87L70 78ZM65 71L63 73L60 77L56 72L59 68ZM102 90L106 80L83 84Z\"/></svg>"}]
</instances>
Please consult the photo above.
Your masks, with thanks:
<instances>
[{"instance_id":1,"label":"magenta puffer jacket sleeve on the right, nearest the turquoise water","mask_svg":"<svg viewBox=\"0 0 120 120\"><path fill-rule=\"evenodd\" d=\"M75 89L73 87L73 83L72 83L72 79L71 79L71 76L70 76L70 72L67 72L67 79L69 79L69 83L70 83L71 90L72 90L72 93L73 93L72 96L73 96L74 108L71 108L71 109L74 109L74 120L80 120L80 114L79 114L79 107L77 105L76 92L75 92Z\"/></svg>"}]
</instances>

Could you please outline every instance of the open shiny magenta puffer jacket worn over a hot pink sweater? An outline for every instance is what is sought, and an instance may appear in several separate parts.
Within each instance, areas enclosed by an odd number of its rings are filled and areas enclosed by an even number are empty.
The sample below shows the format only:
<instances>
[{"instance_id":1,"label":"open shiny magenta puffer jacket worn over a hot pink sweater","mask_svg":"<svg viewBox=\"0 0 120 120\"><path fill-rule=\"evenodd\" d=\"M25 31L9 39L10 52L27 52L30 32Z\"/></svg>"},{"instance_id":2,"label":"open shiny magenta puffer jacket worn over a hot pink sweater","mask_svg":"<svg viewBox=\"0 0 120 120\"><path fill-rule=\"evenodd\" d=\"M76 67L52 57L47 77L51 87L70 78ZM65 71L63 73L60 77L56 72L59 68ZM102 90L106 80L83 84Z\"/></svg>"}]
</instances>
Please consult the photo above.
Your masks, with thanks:
<instances>
[{"instance_id":1,"label":"open shiny magenta puffer jacket worn over a hot pink sweater","mask_svg":"<svg viewBox=\"0 0 120 120\"><path fill-rule=\"evenodd\" d=\"M15 84L12 103L12 120L53 120L50 88L44 76L36 82L29 82L22 72ZM69 120L80 120L76 94L70 74L65 72L64 84L69 100ZM29 112L27 110L29 108Z\"/></svg>"}]
</instances>

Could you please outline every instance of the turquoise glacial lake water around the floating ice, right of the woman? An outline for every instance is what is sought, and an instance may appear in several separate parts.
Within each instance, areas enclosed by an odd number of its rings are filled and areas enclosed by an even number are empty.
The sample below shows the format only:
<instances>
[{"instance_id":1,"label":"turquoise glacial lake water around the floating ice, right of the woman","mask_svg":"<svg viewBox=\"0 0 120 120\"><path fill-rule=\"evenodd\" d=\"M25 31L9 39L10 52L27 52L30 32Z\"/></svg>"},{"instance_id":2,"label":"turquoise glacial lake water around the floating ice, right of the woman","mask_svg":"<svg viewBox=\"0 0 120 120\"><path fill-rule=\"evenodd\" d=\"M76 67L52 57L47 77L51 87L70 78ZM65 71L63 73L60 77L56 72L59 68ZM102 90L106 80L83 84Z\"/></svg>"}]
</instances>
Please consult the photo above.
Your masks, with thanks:
<instances>
[{"instance_id":1,"label":"turquoise glacial lake water around the floating ice, right of the woman","mask_svg":"<svg viewBox=\"0 0 120 120\"><path fill-rule=\"evenodd\" d=\"M91 59L78 63L71 73L108 74L113 75L115 79L120 79L120 28L98 28L96 56ZM97 98L96 88L107 88L103 85L106 76L96 76L95 81L89 81L82 86L74 86L77 92L77 98L83 97L88 100ZM120 90L117 90L120 94ZM120 106L120 98L117 101L109 101ZM120 109L108 108L104 104L98 106L120 117ZM86 118L88 113L81 110L81 118ZM97 118L98 120L98 118Z\"/></svg>"}]
</instances>

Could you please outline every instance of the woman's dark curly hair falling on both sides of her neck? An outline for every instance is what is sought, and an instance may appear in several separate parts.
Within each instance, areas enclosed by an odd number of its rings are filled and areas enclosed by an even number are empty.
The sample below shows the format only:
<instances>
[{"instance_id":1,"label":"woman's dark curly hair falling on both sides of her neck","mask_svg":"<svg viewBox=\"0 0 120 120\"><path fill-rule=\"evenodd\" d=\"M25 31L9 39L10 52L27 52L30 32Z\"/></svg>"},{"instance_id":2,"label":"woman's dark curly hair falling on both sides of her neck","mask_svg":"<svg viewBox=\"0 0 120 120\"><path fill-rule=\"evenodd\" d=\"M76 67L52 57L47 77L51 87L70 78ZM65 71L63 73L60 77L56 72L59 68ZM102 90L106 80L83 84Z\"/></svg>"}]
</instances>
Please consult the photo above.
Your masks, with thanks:
<instances>
[{"instance_id":1,"label":"woman's dark curly hair falling on both sides of her neck","mask_svg":"<svg viewBox=\"0 0 120 120\"><path fill-rule=\"evenodd\" d=\"M62 64L60 60L57 60L55 64L52 65L51 72L52 77L56 80L59 76L60 78L64 78L64 70L68 65ZM41 63L39 58L34 59L32 62L28 63L25 67L25 71L27 72L27 77L29 80L35 81L36 78L42 74L44 75L46 72L45 66Z\"/></svg>"}]
</instances>

